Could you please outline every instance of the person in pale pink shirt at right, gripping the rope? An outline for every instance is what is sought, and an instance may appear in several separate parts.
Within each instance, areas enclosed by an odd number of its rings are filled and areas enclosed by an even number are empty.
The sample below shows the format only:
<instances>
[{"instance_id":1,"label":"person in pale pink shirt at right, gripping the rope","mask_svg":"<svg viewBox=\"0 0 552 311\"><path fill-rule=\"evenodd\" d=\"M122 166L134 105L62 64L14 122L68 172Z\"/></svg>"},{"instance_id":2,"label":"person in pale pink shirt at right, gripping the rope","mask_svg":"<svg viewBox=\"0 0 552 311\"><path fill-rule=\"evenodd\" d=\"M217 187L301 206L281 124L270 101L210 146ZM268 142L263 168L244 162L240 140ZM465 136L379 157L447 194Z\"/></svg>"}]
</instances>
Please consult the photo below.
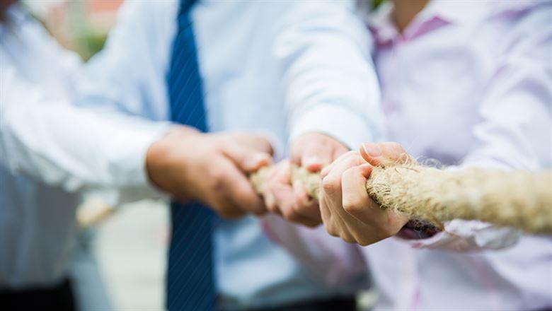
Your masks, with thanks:
<instances>
[{"instance_id":1,"label":"person in pale pink shirt at right, gripping the rope","mask_svg":"<svg viewBox=\"0 0 552 311\"><path fill-rule=\"evenodd\" d=\"M328 233L368 246L277 218L268 232L333 286L367 261L376 310L551 310L550 237L462 220L416 231L364 189L407 151L446 170L551 168L551 1L395 0L368 20L393 143L342 155L320 194Z\"/></svg>"}]
</instances>

